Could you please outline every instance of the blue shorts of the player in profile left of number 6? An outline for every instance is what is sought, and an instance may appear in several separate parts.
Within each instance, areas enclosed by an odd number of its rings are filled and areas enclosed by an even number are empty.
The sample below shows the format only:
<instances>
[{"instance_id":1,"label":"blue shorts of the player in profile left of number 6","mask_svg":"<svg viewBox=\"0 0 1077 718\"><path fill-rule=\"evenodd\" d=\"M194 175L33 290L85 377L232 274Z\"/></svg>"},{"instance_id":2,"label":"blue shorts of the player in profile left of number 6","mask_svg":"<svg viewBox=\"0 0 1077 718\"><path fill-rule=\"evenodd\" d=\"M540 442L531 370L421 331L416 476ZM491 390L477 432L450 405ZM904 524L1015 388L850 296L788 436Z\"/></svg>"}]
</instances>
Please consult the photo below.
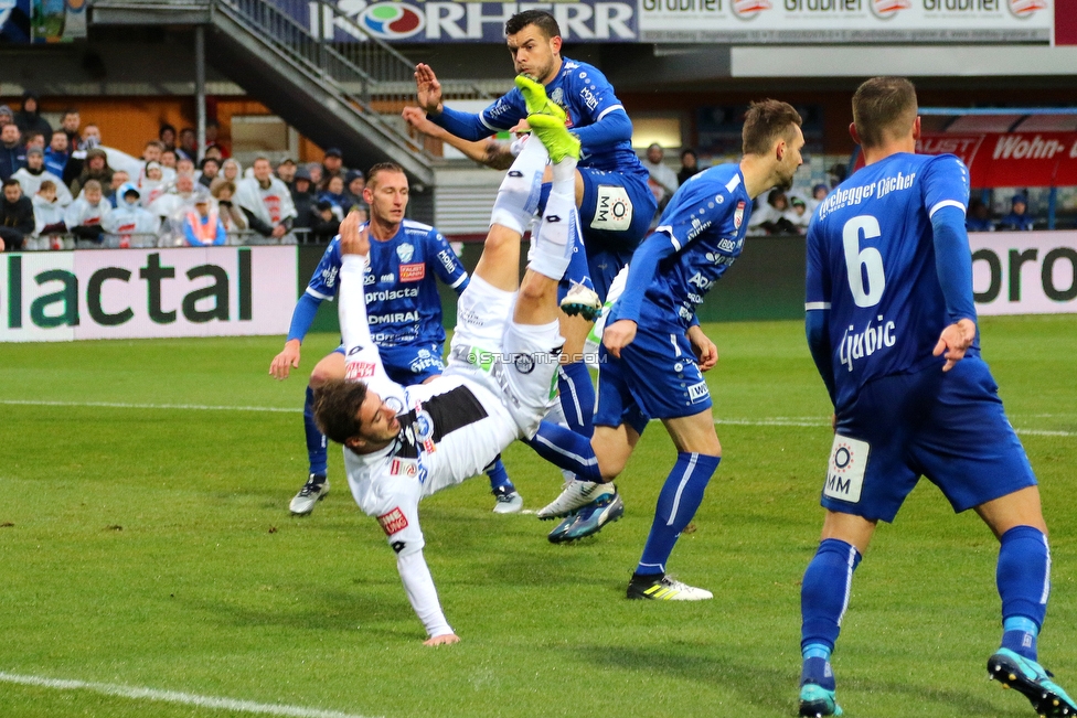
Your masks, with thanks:
<instances>
[{"instance_id":1,"label":"blue shorts of the player in profile left of number 6","mask_svg":"<svg viewBox=\"0 0 1077 718\"><path fill-rule=\"evenodd\" d=\"M640 326L621 357L598 346L595 426L627 424L643 433L650 419L676 419L711 409L711 390L683 332Z\"/></svg>"}]
</instances>

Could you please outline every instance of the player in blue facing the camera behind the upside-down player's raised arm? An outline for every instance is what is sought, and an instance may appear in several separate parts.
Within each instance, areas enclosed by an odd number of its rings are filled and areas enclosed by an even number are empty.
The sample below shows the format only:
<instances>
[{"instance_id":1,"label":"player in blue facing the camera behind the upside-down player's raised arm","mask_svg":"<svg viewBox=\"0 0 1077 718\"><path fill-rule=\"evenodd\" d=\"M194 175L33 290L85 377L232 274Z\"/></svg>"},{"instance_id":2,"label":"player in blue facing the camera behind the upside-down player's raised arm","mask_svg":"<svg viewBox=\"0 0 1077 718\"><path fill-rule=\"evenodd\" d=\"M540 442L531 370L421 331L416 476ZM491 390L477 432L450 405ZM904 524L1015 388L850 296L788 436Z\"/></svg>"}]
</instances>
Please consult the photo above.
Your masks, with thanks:
<instances>
[{"instance_id":1,"label":"player in blue facing the camera behind the upside-down player's raised arm","mask_svg":"<svg viewBox=\"0 0 1077 718\"><path fill-rule=\"evenodd\" d=\"M365 287L371 324L376 324L371 340L382 350L382 362L390 378L403 385L423 384L445 369L441 298L434 278L437 276L460 293L468 286L468 272L437 229L404 218L408 183L403 168L393 162L375 164L366 176L363 199L371 208L371 271ZM291 368L299 366L300 344L319 304L327 299L332 301L340 267L340 242L334 238L296 304L284 351L269 365L269 373L278 379L287 378ZM313 393L329 379L343 376L343 345L318 362L310 373L303 404L310 471L307 483L291 500L292 514L309 514L329 493L329 457L326 437L314 424ZM490 489L497 497L493 511L519 512L523 499L509 480L501 458L494 459L484 471L490 475Z\"/></svg>"}]
</instances>

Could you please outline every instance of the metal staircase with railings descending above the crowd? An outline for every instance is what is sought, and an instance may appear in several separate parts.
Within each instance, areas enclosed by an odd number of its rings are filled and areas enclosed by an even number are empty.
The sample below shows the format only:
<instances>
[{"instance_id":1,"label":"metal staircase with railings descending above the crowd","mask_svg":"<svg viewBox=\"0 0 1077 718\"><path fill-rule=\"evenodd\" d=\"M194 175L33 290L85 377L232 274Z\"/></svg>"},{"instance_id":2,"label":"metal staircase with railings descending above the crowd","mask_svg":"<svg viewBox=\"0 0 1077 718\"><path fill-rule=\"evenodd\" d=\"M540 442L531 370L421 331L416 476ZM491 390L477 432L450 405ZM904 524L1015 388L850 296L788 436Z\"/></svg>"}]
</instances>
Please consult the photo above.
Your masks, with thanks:
<instances>
[{"instance_id":1,"label":"metal staircase with railings descending above the crowd","mask_svg":"<svg viewBox=\"0 0 1077 718\"><path fill-rule=\"evenodd\" d=\"M352 167L399 163L433 185L436 159L399 117L414 103L414 64L326 0L96 0L95 25L205 25L206 58L321 147ZM354 39L335 42L337 30ZM484 97L467 82L451 98Z\"/></svg>"}]
</instances>

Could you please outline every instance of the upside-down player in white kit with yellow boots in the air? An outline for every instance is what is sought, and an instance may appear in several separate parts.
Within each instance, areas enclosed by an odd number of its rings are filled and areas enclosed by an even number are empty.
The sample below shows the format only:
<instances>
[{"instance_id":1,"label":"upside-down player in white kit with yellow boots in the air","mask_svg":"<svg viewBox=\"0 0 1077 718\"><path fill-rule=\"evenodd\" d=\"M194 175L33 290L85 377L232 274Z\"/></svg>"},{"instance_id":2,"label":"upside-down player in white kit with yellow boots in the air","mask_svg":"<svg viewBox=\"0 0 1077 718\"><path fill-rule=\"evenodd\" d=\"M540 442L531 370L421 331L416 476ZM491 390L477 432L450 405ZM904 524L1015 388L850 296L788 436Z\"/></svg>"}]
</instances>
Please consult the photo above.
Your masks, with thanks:
<instances>
[{"instance_id":1,"label":"upside-down player in white kit with yellow boots in the air","mask_svg":"<svg viewBox=\"0 0 1077 718\"><path fill-rule=\"evenodd\" d=\"M352 495L396 551L427 645L459 639L423 558L418 502L474 475L513 440L534 433L563 343L557 283L578 231L572 191L579 143L550 118L536 118L532 129L535 136L501 184L482 256L460 296L448 365L431 382L402 386L385 373L363 296L370 245L353 217L341 225L345 379L318 389L314 417L326 436L344 446ZM518 227L535 211L547 159L555 162L554 186L521 281Z\"/></svg>"}]
</instances>

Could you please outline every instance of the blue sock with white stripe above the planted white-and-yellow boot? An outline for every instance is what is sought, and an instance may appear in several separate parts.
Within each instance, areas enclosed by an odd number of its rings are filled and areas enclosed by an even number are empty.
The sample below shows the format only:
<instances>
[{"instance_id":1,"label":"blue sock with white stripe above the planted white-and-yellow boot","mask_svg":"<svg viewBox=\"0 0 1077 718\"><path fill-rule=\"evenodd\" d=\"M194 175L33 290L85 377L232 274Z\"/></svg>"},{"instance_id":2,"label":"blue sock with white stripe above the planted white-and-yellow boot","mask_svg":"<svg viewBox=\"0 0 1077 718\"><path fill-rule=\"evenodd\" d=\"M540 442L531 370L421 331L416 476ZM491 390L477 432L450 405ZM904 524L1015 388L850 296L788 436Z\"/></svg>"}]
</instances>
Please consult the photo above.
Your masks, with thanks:
<instances>
[{"instance_id":1,"label":"blue sock with white stripe above the planted white-and-yellow boot","mask_svg":"<svg viewBox=\"0 0 1077 718\"><path fill-rule=\"evenodd\" d=\"M658 496L651 533L643 545L636 574L654 576L665 572L665 561L673 551L678 536L689 525L703 503L703 491L718 468L722 457L705 453L679 452L673 470L665 479Z\"/></svg>"}]
</instances>

